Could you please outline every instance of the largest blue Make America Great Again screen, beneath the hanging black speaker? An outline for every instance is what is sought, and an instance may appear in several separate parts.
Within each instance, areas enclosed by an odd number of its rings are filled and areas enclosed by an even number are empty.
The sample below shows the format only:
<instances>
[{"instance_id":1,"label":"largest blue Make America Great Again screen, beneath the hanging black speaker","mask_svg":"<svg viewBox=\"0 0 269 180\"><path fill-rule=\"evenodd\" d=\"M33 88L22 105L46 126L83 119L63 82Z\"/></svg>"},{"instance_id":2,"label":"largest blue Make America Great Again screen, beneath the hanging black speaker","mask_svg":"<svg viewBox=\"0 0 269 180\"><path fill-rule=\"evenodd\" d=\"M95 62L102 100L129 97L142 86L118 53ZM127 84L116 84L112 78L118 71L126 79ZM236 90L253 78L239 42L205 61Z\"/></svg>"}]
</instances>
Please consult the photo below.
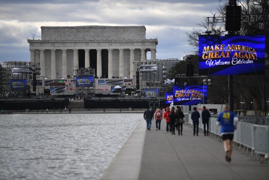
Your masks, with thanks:
<instances>
[{"instance_id":1,"label":"largest blue Make America Great Again screen, beneath the hanging black speaker","mask_svg":"<svg viewBox=\"0 0 269 180\"><path fill-rule=\"evenodd\" d=\"M200 75L263 74L264 35L200 35Z\"/></svg>"}]
</instances>

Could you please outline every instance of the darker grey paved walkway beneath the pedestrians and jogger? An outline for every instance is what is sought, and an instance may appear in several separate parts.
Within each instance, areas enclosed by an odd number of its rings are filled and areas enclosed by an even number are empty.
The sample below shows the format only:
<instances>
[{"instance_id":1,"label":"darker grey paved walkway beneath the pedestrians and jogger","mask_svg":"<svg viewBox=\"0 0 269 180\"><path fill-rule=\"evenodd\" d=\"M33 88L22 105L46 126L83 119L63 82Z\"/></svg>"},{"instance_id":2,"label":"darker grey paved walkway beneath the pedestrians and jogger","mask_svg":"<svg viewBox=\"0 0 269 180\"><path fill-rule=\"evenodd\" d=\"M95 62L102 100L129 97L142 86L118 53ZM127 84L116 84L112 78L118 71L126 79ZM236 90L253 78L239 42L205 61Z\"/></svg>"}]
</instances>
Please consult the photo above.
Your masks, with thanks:
<instances>
[{"instance_id":1,"label":"darker grey paved walkway beneath the pedestrians and jogger","mask_svg":"<svg viewBox=\"0 0 269 180\"><path fill-rule=\"evenodd\" d=\"M227 163L222 142L194 136L187 126L183 136L165 133L164 121L161 126L156 130L153 121L146 133L139 180L269 180L268 162L235 150Z\"/></svg>"}]
</instances>

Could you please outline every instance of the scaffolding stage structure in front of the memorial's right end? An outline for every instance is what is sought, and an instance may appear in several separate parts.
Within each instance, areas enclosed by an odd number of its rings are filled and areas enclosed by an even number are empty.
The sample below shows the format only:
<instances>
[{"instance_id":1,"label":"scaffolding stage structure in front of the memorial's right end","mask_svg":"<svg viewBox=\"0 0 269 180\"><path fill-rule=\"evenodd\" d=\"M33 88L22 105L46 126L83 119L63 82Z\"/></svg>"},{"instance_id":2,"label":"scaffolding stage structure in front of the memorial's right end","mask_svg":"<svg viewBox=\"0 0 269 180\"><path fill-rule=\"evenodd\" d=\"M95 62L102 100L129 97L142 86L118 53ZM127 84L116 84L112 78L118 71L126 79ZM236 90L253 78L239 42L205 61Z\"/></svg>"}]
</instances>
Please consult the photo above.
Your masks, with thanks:
<instances>
[{"instance_id":1,"label":"scaffolding stage structure in front of the memorial's right end","mask_svg":"<svg viewBox=\"0 0 269 180\"><path fill-rule=\"evenodd\" d=\"M172 67L179 62L177 58L157 59L134 62L134 85L136 89L158 89L157 96L150 96L149 106L159 107L160 99L164 98L165 92L173 91L175 72Z\"/></svg>"}]
</instances>

